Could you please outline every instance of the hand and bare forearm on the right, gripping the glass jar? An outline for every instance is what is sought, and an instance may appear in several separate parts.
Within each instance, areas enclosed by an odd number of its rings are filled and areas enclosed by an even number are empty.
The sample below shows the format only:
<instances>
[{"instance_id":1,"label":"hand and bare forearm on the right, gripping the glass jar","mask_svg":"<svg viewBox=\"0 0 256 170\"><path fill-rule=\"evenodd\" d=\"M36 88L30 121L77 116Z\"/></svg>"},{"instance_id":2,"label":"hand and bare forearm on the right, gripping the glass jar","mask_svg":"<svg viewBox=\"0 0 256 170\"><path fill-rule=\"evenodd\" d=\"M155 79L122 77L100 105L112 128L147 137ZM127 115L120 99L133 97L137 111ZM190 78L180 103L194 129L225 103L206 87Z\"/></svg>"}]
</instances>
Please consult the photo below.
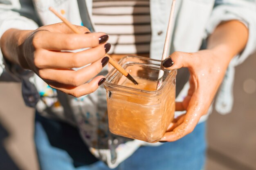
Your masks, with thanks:
<instances>
[{"instance_id":1,"label":"hand and bare forearm on the right, gripping the glass jar","mask_svg":"<svg viewBox=\"0 0 256 170\"><path fill-rule=\"evenodd\" d=\"M207 113L229 62L245 48L248 36L248 28L243 22L222 22L209 36L208 50L174 52L163 61L164 67L170 70L189 68L190 88L183 102L176 103L176 110L186 110L186 114L170 124L162 141L175 141L193 131L201 116Z\"/></svg>"}]
</instances>

